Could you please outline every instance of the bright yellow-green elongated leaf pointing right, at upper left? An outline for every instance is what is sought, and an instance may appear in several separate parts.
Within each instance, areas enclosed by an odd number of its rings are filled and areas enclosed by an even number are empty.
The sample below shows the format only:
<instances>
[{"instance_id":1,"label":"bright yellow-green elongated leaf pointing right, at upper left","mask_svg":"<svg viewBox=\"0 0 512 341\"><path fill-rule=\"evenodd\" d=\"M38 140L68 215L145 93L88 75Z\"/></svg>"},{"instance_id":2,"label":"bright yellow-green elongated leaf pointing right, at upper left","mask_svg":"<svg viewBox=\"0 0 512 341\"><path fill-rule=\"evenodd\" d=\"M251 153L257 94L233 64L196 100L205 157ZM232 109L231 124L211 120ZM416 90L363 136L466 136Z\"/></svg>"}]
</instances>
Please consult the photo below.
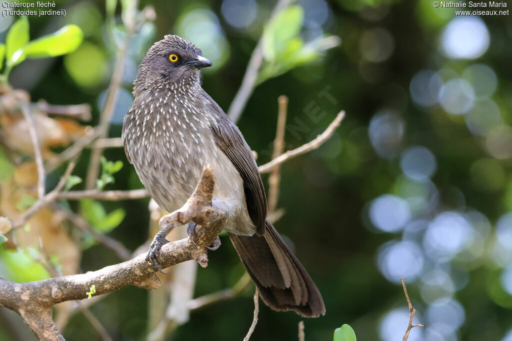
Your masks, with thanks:
<instances>
[{"instance_id":1,"label":"bright yellow-green elongated leaf pointing right, at upper left","mask_svg":"<svg viewBox=\"0 0 512 341\"><path fill-rule=\"evenodd\" d=\"M76 25L67 25L55 33L42 36L23 49L27 58L47 58L75 51L83 40L83 32Z\"/></svg>"}]
</instances>

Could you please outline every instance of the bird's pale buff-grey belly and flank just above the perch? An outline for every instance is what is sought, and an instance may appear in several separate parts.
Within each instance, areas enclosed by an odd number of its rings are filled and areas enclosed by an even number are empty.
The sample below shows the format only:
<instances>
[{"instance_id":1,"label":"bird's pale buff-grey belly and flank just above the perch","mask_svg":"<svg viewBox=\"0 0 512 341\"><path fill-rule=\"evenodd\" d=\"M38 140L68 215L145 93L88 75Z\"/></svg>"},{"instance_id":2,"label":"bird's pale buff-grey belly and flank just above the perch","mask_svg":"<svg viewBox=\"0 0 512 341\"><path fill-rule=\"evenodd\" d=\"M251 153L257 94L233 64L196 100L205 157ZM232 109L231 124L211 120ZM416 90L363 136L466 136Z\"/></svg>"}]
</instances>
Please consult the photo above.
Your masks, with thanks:
<instances>
[{"instance_id":1,"label":"bird's pale buff-grey belly and flank just above the perch","mask_svg":"<svg viewBox=\"0 0 512 341\"><path fill-rule=\"evenodd\" d=\"M155 143L147 147L140 157L132 157L137 174L160 207L173 212L183 206L194 192L204 166L214 170L213 197L226 203L229 212L225 230L252 235L254 225L247 212L243 180L227 156L206 141L201 146L174 145L165 148ZM174 149L174 152L170 150ZM130 153L130 155L132 155Z\"/></svg>"}]
</instances>

